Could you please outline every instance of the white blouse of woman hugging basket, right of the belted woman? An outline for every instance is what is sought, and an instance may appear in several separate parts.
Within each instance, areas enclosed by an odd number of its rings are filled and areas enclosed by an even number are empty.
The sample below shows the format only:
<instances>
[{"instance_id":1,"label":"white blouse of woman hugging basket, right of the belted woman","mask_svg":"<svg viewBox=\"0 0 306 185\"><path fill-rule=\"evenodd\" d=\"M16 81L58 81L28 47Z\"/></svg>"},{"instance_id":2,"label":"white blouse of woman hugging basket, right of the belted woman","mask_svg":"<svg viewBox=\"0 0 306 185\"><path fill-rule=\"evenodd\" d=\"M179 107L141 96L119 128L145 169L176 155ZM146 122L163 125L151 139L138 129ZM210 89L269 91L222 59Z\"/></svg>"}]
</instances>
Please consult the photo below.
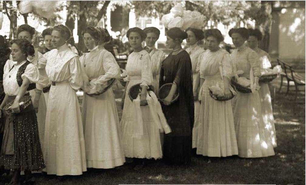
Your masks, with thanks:
<instances>
[{"instance_id":1,"label":"white blouse of woman hugging basket, right of the belted woman","mask_svg":"<svg viewBox=\"0 0 306 185\"><path fill-rule=\"evenodd\" d=\"M89 83L86 83L85 87L85 91L89 93L98 93L108 80L120 78L119 65L114 56L99 46L82 55L80 62L89 79Z\"/></svg>"}]
</instances>

